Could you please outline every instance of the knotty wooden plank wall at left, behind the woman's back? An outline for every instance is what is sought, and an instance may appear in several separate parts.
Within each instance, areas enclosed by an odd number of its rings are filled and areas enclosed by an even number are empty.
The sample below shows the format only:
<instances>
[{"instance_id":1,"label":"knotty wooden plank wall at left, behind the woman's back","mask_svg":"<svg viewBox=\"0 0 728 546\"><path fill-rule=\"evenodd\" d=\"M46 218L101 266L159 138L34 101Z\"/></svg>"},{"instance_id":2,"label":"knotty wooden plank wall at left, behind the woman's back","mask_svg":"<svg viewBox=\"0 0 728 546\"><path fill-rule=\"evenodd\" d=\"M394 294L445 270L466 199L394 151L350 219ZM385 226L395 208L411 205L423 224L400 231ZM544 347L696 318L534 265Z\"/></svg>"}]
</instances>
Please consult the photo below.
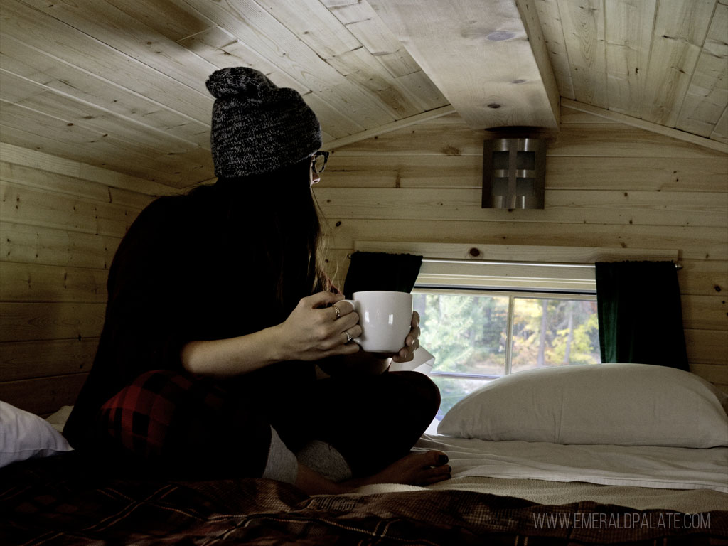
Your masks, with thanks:
<instances>
[{"instance_id":1,"label":"knotty wooden plank wall at left, behind the woman's back","mask_svg":"<svg viewBox=\"0 0 728 546\"><path fill-rule=\"evenodd\" d=\"M91 367L111 258L166 186L1 145L0 400L45 415Z\"/></svg>"}]
</instances>

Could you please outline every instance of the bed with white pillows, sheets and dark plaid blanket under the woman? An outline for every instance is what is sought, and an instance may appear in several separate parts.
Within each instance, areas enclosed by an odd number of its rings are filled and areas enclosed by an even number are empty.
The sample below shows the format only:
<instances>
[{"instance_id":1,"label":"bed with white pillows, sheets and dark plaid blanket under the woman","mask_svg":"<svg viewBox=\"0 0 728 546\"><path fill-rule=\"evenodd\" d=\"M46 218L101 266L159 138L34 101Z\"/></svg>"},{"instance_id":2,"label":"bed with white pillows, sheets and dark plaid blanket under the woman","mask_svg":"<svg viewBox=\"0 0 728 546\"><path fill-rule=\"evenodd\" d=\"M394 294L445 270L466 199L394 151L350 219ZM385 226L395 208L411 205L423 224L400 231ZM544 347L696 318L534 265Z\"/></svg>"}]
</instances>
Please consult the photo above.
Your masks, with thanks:
<instances>
[{"instance_id":1,"label":"bed with white pillows, sheets and dark plaid blanket under the woman","mask_svg":"<svg viewBox=\"0 0 728 546\"><path fill-rule=\"evenodd\" d=\"M728 544L727 397L673 368L560 369L493 381L422 436L414 450L446 451L451 480L341 495L90 471L56 430L68 408L0 405L0 542Z\"/></svg>"}]
</instances>

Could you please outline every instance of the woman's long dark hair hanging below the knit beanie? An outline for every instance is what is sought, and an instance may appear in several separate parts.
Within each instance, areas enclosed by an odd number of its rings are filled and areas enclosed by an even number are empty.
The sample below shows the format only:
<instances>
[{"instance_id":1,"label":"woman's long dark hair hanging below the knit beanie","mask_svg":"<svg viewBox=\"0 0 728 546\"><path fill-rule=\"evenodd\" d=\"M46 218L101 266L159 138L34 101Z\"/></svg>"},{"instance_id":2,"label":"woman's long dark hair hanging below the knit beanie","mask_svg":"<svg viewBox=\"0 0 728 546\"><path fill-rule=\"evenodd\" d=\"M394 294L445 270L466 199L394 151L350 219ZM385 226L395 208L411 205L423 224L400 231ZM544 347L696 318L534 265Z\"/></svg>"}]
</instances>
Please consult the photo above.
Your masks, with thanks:
<instances>
[{"instance_id":1,"label":"woman's long dark hair hanging below the knit beanie","mask_svg":"<svg viewBox=\"0 0 728 546\"><path fill-rule=\"evenodd\" d=\"M285 315L302 297L331 288L323 268L322 218L310 169L306 158L272 173L215 183L232 248L259 260L261 284L275 290Z\"/></svg>"}]
</instances>

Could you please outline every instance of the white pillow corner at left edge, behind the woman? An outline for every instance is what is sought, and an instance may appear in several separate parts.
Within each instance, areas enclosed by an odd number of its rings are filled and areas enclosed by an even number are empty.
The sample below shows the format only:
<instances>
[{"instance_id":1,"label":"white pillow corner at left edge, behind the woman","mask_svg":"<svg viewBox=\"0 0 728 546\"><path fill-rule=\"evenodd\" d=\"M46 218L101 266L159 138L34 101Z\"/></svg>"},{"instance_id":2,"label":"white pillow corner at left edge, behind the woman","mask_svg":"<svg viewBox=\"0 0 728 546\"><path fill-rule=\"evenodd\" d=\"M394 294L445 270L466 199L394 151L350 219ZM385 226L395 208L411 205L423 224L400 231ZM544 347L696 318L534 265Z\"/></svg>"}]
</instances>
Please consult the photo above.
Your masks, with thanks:
<instances>
[{"instance_id":1,"label":"white pillow corner at left edge, behind the woman","mask_svg":"<svg viewBox=\"0 0 728 546\"><path fill-rule=\"evenodd\" d=\"M0 467L71 449L66 438L50 423L29 411L0 402Z\"/></svg>"}]
</instances>

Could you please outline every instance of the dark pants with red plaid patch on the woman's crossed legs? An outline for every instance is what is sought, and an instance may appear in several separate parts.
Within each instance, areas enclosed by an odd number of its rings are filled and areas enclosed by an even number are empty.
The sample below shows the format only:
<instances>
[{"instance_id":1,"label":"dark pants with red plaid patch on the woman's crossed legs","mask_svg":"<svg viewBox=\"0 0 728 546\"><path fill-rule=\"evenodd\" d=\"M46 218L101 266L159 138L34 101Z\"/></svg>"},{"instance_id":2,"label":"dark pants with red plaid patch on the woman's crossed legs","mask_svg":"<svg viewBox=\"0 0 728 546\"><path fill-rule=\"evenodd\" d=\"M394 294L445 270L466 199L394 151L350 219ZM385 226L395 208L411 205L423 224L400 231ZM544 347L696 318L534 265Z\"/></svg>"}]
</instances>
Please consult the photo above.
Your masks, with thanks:
<instances>
[{"instance_id":1,"label":"dark pants with red plaid patch on the woman's crossed legs","mask_svg":"<svg viewBox=\"0 0 728 546\"><path fill-rule=\"evenodd\" d=\"M159 370L143 373L103 405L98 434L112 454L152 472L259 477L273 427L294 453L322 440L354 476L365 476L408 454L439 405L438 387L418 372L332 377L261 397Z\"/></svg>"}]
</instances>

